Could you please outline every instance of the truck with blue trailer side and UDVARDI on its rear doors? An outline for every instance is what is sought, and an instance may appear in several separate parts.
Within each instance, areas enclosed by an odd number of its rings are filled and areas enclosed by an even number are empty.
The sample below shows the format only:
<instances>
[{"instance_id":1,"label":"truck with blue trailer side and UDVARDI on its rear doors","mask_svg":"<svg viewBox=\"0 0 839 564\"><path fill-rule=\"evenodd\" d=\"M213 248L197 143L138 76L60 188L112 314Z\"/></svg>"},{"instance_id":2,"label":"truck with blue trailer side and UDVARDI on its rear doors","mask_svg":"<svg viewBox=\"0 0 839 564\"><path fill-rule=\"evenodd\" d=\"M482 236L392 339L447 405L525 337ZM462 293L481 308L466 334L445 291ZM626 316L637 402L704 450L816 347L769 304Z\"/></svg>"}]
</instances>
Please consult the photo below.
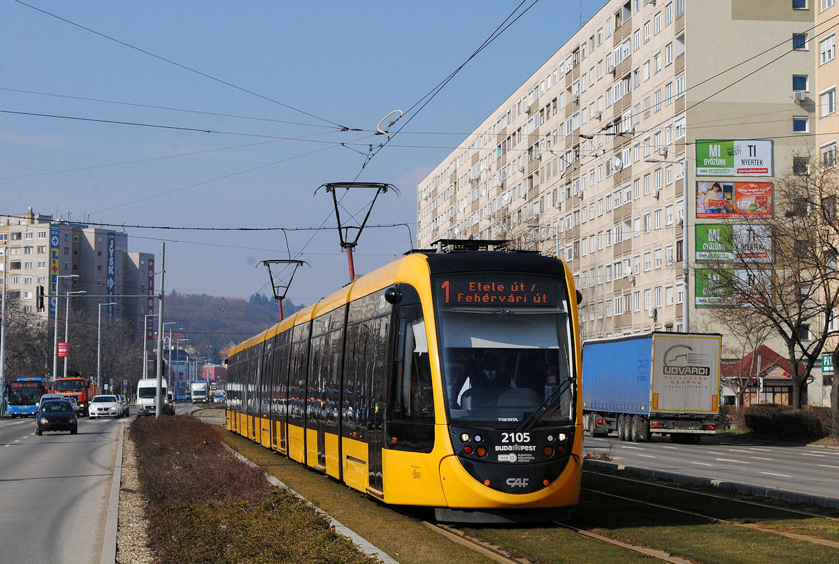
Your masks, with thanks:
<instances>
[{"instance_id":1,"label":"truck with blue trailer side and UDVARDI on its rear doors","mask_svg":"<svg viewBox=\"0 0 839 564\"><path fill-rule=\"evenodd\" d=\"M652 332L582 346L583 428L621 441L698 443L719 424L722 336Z\"/></svg>"}]
</instances>

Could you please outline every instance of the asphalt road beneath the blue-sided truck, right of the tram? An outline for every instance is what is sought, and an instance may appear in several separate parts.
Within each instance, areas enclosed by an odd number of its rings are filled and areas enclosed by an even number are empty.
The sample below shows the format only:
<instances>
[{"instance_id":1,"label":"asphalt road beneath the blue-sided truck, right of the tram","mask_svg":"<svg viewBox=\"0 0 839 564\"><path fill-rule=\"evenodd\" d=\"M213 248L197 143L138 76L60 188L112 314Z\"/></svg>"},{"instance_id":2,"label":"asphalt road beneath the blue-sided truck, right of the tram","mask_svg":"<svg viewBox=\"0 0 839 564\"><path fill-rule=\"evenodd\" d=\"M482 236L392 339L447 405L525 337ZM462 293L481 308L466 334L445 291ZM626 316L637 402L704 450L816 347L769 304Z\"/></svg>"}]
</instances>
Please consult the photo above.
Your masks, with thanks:
<instances>
[{"instance_id":1,"label":"asphalt road beneath the blue-sided truck, right of the tram","mask_svg":"<svg viewBox=\"0 0 839 564\"><path fill-rule=\"evenodd\" d=\"M586 435L583 452L607 454L626 466L839 499L839 449L729 436L677 445L660 436L622 442L617 436Z\"/></svg>"}]
</instances>

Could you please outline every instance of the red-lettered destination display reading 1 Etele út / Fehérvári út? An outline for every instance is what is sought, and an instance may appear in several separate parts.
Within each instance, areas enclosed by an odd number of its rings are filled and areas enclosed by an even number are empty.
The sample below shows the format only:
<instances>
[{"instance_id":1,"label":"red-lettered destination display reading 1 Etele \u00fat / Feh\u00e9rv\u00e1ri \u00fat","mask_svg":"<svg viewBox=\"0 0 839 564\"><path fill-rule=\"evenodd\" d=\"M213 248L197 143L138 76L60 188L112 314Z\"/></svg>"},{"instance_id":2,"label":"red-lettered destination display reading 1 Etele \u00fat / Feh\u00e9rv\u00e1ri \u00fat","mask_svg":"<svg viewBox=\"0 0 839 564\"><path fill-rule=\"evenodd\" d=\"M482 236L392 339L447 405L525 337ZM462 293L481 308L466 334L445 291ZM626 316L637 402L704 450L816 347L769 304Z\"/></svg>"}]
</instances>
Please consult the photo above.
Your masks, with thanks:
<instances>
[{"instance_id":1,"label":"red-lettered destination display reading 1 Etele \u00fat / Feh\u00e9rv\u00e1ri \u00fat","mask_svg":"<svg viewBox=\"0 0 839 564\"><path fill-rule=\"evenodd\" d=\"M435 286L443 306L556 307L560 299L555 279L532 275L446 276Z\"/></svg>"}]
</instances>

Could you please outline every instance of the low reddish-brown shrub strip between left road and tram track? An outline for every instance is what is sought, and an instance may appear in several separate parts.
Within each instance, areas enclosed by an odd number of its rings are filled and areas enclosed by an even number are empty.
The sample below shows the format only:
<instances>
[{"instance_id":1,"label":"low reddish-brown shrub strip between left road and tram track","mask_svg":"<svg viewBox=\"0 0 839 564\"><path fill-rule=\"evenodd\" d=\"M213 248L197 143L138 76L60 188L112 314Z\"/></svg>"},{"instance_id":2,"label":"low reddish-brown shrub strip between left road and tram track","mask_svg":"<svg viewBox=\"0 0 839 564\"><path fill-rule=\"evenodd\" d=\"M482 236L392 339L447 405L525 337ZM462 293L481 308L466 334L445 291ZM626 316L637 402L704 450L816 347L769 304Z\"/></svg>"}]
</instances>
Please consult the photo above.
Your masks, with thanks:
<instances>
[{"instance_id":1,"label":"low reddish-brown shrub strip between left road and tram track","mask_svg":"<svg viewBox=\"0 0 839 564\"><path fill-rule=\"evenodd\" d=\"M161 417L135 420L129 432L159 562L375 562L330 530L326 517L227 452L216 427Z\"/></svg>"}]
</instances>

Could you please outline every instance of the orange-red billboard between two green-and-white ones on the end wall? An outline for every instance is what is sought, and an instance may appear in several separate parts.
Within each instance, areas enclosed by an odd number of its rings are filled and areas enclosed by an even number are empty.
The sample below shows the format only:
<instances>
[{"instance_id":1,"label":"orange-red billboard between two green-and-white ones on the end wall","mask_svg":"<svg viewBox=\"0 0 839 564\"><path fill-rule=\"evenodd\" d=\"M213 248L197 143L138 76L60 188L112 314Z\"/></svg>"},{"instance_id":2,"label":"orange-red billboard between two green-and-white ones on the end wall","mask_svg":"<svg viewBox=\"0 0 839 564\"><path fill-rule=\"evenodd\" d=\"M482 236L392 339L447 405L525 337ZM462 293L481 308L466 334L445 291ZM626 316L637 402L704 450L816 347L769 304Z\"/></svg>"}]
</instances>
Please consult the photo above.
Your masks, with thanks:
<instances>
[{"instance_id":1,"label":"orange-red billboard between two green-and-white ones on the end wall","mask_svg":"<svg viewBox=\"0 0 839 564\"><path fill-rule=\"evenodd\" d=\"M696 217L771 217L771 182L727 182L703 180L696 182Z\"/></svg>"}]
</instances>

